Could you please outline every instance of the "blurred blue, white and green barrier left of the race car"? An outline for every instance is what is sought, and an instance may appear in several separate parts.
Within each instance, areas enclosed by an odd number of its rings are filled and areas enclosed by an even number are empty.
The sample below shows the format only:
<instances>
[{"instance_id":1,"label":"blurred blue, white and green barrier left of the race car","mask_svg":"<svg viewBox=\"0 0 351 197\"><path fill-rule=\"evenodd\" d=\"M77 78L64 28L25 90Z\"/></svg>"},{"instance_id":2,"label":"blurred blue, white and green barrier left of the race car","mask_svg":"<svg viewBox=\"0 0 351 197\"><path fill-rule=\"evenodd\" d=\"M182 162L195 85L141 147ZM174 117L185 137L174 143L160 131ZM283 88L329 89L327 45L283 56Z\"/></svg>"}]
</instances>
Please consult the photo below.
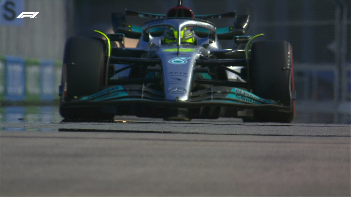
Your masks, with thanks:
<instances>
[{"instance_id":1,"label":"blurred blue, white and green barrier left of the race car","mask_svg":"<svg viewBox=\"0 0 351 197\"><path fill-rule=\"evenodd\" d=\"M0 57L1 102L58 100L61 65L54 60Z\"/></svg>"}]
</instances>

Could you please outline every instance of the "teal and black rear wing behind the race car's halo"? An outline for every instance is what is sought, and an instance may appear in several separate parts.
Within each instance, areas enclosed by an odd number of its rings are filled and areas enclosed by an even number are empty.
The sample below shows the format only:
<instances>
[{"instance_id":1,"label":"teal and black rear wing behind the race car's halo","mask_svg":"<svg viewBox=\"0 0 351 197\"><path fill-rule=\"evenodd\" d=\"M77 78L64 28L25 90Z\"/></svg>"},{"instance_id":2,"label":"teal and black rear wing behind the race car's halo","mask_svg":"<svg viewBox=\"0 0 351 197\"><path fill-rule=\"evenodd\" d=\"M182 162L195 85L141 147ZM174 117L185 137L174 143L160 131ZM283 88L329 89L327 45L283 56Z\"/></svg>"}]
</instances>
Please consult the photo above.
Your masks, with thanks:
<instances>
[{"instance_id":1,"label":"teal and black rear wing behind the race car's halo","mask_svg":"<svg viewBox=\"0 0 351 197\"><path fill-rule=\"evenodd\" d=\"M143 28L127 24L126 16L137 16L139 18L161 19L166 18L165 14L153 14L147 12L136 12L126 9L126 13L112 13L112 27L115 33L122 33L126 38L139 39ZM249 15L236 15L235 12L228 12L224 14L204 14L195 15L198 19L223 19L233 18L234 24L230 27L218 27L217 36L220 40L232 40L234 36L245 35L249 27Z\"/></svg>"}]
</instances>

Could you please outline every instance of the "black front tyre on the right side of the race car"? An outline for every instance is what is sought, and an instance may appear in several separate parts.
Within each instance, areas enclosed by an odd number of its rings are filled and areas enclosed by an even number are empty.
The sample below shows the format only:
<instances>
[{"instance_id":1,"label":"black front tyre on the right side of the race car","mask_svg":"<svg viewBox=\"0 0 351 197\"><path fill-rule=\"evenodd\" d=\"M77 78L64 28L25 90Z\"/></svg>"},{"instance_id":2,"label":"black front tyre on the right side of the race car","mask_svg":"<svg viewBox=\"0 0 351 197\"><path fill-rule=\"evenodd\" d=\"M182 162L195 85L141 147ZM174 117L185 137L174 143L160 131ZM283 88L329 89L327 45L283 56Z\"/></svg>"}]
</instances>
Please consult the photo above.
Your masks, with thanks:
<instances>
[{"instance_id":1,"label":"black front tyre on the right side of the race car","mask_svg":"<svg viewBox=\"0 0 351 197\"><path fill-rule=\"evenodd\" d=\"M254 94L272 99L291 108L290 112L255 110L256 122L291 122L295 115L292 99L292 47L286 41L261 41L253 44L250 66L251 87Z\"/></svg>"}]
</instances>

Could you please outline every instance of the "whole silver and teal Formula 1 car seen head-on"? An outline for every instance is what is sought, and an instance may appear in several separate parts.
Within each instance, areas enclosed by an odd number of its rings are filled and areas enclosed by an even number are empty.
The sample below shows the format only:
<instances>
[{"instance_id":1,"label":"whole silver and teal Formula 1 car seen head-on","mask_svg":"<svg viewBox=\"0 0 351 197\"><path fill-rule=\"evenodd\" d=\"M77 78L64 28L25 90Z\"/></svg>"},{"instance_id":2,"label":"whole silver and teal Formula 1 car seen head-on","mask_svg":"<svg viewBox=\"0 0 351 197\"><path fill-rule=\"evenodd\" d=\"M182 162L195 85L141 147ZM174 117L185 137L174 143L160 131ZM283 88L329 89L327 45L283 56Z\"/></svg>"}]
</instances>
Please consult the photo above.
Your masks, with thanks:
<instances>
[{"instance_id":1,"label":"whole silver and teal Formula 1 car seen head-on","mask_svg":"<svg viewBox=\"0 0 351 197\"><path fill-rule=\"evenodd\" d=\"M144 26L126 17L150 18ZM233 20L216 27L210 19ZM183 6L167 14L113 13L105 39L71 37L65 45L60 114L66 119L115 115L165 120L241 117L291 122L294 118L292 47L252 40L249 15L194 15ZM136 48L124 38L139 39ZM233 42L222 49L219 40Z\"/></svg>"}]
</instances>

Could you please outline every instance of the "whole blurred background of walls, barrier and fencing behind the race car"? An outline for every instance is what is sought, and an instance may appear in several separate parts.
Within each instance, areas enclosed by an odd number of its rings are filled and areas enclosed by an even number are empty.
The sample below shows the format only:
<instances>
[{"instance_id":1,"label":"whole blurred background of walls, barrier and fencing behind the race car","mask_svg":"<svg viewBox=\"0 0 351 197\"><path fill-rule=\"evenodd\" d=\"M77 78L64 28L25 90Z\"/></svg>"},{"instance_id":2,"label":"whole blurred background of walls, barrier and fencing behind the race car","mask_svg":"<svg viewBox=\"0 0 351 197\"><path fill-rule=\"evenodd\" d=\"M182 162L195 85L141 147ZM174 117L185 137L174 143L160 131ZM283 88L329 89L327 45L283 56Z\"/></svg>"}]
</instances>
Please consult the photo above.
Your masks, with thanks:
<instances>
[{"instance_id":1,"label":"whole blurred background of walls, barrier and fencing behind the race car","mask_svg":"<svg viewBox=\"0 0 351 197\"><path fill-rule=\"evenodd\" d=\"M112 33L111 13L165 14L177 0L1 0L0 115L31 113L22 104L58 102L61 61L68 37ZM293 46L294 122L351 123L350 0L183 0L195 14L250 15L247 35ZM34 18L16 18L39 12ZM218 27L230 21L213 20ZM142 25L135 24L135 25ZM128 47L135 40L126 40ZM231 48L231 41L223 42ZM11 110L6 106L12 105ZM14 106L16 105L16 106ZM38 110L38 109L37 109ZM30 110L29 110L30 111Z\"/></svg>"}]
</instances>

